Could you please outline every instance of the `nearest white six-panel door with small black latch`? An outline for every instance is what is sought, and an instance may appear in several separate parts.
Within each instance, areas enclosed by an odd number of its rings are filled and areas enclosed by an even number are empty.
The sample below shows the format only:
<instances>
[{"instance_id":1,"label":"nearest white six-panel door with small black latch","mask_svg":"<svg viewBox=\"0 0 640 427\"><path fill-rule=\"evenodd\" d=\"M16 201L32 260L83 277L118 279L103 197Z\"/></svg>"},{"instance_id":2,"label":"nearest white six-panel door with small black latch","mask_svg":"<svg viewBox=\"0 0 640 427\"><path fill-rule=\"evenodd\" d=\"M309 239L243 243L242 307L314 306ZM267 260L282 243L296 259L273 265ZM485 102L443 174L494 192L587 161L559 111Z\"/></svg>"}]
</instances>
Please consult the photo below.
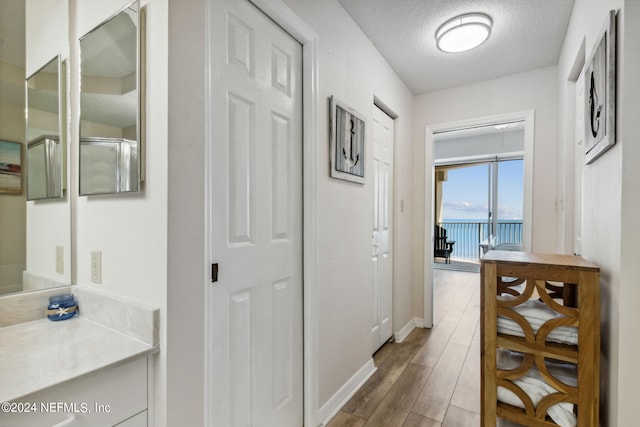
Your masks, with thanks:
<instances>
[{"instance_id":1,"label":"nearest white six-panel door with small black latch","mask_svg":"<svg viewBox=\"0 0 640 427\"><path fill-rule=\"evenodd\" d=\"M247 0L211 1L209 419L299 427L302 47Z\"/></svg>"}]
</instances>

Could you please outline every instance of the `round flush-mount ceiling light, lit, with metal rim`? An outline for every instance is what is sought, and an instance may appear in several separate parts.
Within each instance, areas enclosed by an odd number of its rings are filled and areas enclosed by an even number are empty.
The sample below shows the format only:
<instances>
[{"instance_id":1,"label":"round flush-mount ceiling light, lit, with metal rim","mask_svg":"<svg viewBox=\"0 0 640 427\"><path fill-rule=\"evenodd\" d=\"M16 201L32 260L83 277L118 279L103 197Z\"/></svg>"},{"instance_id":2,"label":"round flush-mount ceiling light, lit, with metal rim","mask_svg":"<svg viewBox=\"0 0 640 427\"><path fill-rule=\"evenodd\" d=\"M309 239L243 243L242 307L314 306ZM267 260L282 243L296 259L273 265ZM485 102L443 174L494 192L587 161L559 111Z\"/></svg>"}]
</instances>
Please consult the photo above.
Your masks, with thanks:
<instances>
[{"instance_id":1,"label":"round flush-mount ceiling light, lit, with metal rim","mask_svg":"<svg viewBox=\"0 0 640 427\"><path fill-rule=\"evenodd\" d=\"M471 50L491 35L493 22L484 13L467 13L442 24L436 31L438 49L447 53Z\"/></svg>"}]
</instances>

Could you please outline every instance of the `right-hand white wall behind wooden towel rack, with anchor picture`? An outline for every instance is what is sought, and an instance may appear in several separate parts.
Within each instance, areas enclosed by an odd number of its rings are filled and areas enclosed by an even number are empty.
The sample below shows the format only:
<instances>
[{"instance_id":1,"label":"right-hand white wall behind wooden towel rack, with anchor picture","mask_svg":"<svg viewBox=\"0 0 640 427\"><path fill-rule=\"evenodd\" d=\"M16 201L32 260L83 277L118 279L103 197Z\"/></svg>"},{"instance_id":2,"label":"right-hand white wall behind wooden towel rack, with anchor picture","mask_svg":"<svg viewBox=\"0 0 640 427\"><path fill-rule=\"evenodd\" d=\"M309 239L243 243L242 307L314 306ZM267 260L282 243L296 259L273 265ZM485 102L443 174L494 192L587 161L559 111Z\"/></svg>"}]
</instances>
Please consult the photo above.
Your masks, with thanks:
<instances>
[{"instance_id":1,"label":"right-hand white wall behind wooden towel rack, with anchor picture","mask_svg":"<svg viewBox=\"0 0 640 427\"><path fill-rule=\"evenodd\" d=\"M634 327L640 322L640 2L636 0L576 0L559 61L560 105L572 102L568 76L584 41L587 60L603 28L607 13L618 9L617 144L593 164L583 168L582 254L601 269L601 377L603 425L634 425L640 417L635 392L640 381L636 355L640 338ZM560 134L570 134L573 117L561 108ZM562 140L561 150L571 151ZM567 159L570 162L570 159ZM573 165L560 172L569 175ZM565 178L568 179L568 178ZM570 188L567 188L569 191ZM567 223L571 224L570 219ZM561 236L562 238L562 236Z\"/></svg>"}]
</instances>

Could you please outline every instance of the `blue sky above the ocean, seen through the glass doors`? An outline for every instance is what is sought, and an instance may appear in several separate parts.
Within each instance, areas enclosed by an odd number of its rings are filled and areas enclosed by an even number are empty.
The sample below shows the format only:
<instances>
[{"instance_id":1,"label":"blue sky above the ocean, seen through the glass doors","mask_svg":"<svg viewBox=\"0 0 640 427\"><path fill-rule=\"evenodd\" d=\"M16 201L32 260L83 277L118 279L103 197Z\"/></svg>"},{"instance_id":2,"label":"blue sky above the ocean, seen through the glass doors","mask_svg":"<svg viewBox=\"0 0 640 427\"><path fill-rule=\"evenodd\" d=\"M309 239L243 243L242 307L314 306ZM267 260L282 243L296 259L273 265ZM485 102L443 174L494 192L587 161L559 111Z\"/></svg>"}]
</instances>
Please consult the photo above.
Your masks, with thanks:
<instances>
[{"instance_id":1,"label":"blue sky above the ocean, seen through the glass doors","mask_svg":"<svg viewBox=\"0 0 640 427\"><path fill-rule=\"evenodd\" d=\"M522 220L522 160L498 164L498 219ZM442 184L443 219L486 221L488 164L451 169Z\"/></svg>"}]
</instances>

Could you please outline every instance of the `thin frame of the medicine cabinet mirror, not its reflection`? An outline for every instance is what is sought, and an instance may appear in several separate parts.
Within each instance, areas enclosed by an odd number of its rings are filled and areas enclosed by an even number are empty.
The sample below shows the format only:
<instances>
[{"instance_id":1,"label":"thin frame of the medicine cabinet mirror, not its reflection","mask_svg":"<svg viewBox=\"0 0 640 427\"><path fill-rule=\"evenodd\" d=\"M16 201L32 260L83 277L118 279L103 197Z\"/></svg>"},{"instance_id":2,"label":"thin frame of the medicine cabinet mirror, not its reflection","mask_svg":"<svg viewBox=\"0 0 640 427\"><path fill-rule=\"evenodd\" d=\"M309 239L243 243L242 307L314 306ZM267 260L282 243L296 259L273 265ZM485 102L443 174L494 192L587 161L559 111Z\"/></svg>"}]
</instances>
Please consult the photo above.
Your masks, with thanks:
<instances>
[{"instance_id":1,"label":"thin frame of the medicine cabinet mirror, not its reflection","mask_svg":"<svg viewBox=\"0 0 640 427\"><path fill-rule=\"evenodd\" d=\"M82 41L90 36L91 34L93 34L94 32L98 31L100 28L102 28L105 24L109 23L113 18L115 18L116 16L120 15L121 13L123 13L125 10L131 8L133 5L135 5L136 9L137 9L137 25L136 25L136 101L137 101L137 106L136 106L136 142L138 145L138 157L137 157L137 161L136 161L136 165L138 167L138 179L137 179L137 188L135 190L125 190L122 191L121 190L121 181L118 179L115 183L114 186L117 188L115 191L113 192L88 192L88 193L83 193L82 192L82 146L83 145L103 145L107 142L118 142L118 141L131 141L130 139L127 138L108 138L108 137L103 137L103 136L83 136L82 135ZM134 0L130 3L128 3L127 5L125 5L124 7L122 7L121 9L119 9L117 12L115 12L114 14L112 14L111 16L109 16L107 19L103 20L102 22L100 22L98 25L96 25L95 27L93 27L90 31L88 31L86 34L84 34L82 37L79 38L79 45L80 45L80 111L79 111L79 121L78 121L78 134L79 134L79 144L78 144L78 163L79 163L79 167L78 167L78 194L80 196L94 196L94 195L105 195L105 194L139 194L142 192L142 183L145 181L145 157L146 157L146 150L145 150L145 132L144 132L144 111L145 111L145 104L144 104L144 99L145 99L145 61L143 60L144 58L144 44L145 44L145 15L144 15L144 9L140 7L140 1L139 0ZM118 165L120 163L122 163L122 158L118 158L117 159L117 163ZM118 174L119 177L119 174Z\"/></svg>"}]
</instances>

